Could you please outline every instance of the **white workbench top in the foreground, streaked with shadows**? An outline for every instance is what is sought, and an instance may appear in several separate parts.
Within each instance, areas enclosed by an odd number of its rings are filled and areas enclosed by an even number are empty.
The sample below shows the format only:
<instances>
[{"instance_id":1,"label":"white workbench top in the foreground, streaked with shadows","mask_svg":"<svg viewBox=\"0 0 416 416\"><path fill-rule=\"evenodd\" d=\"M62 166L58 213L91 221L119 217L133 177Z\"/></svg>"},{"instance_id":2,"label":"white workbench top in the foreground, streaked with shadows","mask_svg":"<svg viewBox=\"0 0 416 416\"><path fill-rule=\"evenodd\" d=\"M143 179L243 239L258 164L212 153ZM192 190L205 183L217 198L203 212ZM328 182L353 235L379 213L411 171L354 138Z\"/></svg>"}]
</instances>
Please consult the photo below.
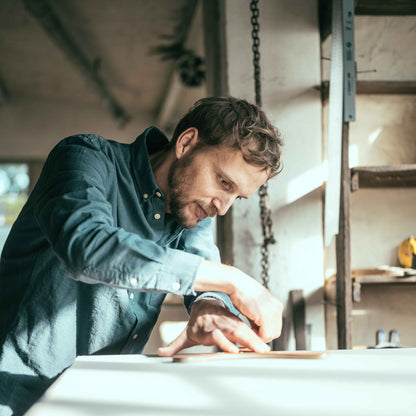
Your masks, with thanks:
<instances>
[{"instance_id":1,"label":"white workbench top in the foreground, streaked with shadows","mask_svg":"<svg viewBox=\"0 0 416 416\"><path fill-rule=\"evenodd\" d=\"M27 416L416 415L416 349L175 363L78 357Z\"/></svg>"}]
</instances>

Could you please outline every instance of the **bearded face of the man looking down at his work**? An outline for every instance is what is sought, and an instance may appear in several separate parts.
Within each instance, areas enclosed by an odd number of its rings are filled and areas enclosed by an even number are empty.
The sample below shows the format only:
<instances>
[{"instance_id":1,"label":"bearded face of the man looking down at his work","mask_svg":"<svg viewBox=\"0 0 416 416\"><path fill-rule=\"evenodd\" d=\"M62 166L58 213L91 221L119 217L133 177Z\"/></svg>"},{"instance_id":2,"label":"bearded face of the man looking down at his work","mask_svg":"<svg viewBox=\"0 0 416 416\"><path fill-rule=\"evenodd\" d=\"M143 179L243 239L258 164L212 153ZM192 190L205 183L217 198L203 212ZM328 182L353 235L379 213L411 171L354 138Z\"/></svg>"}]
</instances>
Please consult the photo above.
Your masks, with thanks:
<instances>
[{"instance_id":1,"label":"bearded face of the man looking down at his work","mask_svg":"<svg viewBox=\"0 0 416 416\"><path fill-rule=\"evenodd\" d=\"M248 198L267 173L243 159L240 150L204 147L188 150L169 171L168 212L185 228L224 215L237 198Z\"/></svg>"}]
</instances>

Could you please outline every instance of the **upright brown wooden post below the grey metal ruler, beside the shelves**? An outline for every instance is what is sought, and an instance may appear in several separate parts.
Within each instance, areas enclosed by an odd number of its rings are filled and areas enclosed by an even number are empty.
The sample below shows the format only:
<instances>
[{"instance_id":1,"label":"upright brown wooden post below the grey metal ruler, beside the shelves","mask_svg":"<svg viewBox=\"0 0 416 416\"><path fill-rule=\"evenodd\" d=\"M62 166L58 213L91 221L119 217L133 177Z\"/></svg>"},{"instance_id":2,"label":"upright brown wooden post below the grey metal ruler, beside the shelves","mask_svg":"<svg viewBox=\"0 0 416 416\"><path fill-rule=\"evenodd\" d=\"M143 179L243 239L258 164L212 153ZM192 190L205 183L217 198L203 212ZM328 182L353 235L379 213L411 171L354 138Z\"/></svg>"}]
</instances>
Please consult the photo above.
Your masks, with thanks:
<instances>
[{"instance_id":1,"label":"upright brown wooden post below the grey metal ruler, beside the shelves","mask_svg":"<svg viewBox=\"0 0 416 416\"><path fill-rule=\"evenodd\" d=\"M350 193L351 174L348 162L349 123L342 125L341 150L341 189L339 232L336 236L337 256L337 327L338 349L352 348L351 311L351 232L350 232Z\"/></svg>"}]
</instances>

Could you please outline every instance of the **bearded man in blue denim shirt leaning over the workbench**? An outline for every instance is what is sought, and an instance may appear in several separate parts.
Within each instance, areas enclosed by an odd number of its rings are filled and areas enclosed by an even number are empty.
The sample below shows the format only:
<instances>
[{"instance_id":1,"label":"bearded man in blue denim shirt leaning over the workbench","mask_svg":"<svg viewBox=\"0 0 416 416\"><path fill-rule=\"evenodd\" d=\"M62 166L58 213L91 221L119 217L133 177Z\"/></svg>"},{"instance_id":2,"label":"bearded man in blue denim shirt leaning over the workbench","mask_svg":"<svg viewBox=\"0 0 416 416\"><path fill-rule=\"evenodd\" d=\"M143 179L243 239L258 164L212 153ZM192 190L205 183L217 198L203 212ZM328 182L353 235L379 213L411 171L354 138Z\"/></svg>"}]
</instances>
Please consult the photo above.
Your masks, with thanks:
<instances>
[{"instance_id":1,"label":"bearded man in blue denim shirt leaning over the workbench","mask_svg":"<svg viewBox=\"0 0 416 416\"><path fill-rule=\"evenodd\" d=\"M154 127L131 145L60 142L2 253L0 415L22 414L77 355L140 353L168 292L190 320L160 355L266 351L282 306L220 263L210 217L279 172L280 146L264 113L231 97L198 101L170 142Z\"/></svg>"}]
</instances>

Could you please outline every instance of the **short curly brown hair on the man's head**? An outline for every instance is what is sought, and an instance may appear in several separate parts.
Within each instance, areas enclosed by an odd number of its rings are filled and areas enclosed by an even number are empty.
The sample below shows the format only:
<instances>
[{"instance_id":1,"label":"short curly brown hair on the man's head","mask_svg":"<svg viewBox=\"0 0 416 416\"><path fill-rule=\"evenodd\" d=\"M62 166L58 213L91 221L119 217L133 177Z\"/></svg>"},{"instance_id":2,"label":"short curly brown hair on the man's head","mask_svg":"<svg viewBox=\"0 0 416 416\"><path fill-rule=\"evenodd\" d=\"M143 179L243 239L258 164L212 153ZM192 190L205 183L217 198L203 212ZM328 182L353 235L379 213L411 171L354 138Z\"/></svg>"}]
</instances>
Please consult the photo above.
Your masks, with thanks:
<instances>
[{"instance_id":1,"label":"short curly brown hair on the man's head","mask_svg":"<svg viewBox=\"0 0 416 416\"><path fill-rule=\"evenodd\" d=\"M246 162L262 167L269 178L282 170L283 141L279 130L258 106L246 100L234 97L198 100L179 121L171 144L190 127L198 129L199 148L222 145L240 149Z\"/></svg>"}]
</instances>

